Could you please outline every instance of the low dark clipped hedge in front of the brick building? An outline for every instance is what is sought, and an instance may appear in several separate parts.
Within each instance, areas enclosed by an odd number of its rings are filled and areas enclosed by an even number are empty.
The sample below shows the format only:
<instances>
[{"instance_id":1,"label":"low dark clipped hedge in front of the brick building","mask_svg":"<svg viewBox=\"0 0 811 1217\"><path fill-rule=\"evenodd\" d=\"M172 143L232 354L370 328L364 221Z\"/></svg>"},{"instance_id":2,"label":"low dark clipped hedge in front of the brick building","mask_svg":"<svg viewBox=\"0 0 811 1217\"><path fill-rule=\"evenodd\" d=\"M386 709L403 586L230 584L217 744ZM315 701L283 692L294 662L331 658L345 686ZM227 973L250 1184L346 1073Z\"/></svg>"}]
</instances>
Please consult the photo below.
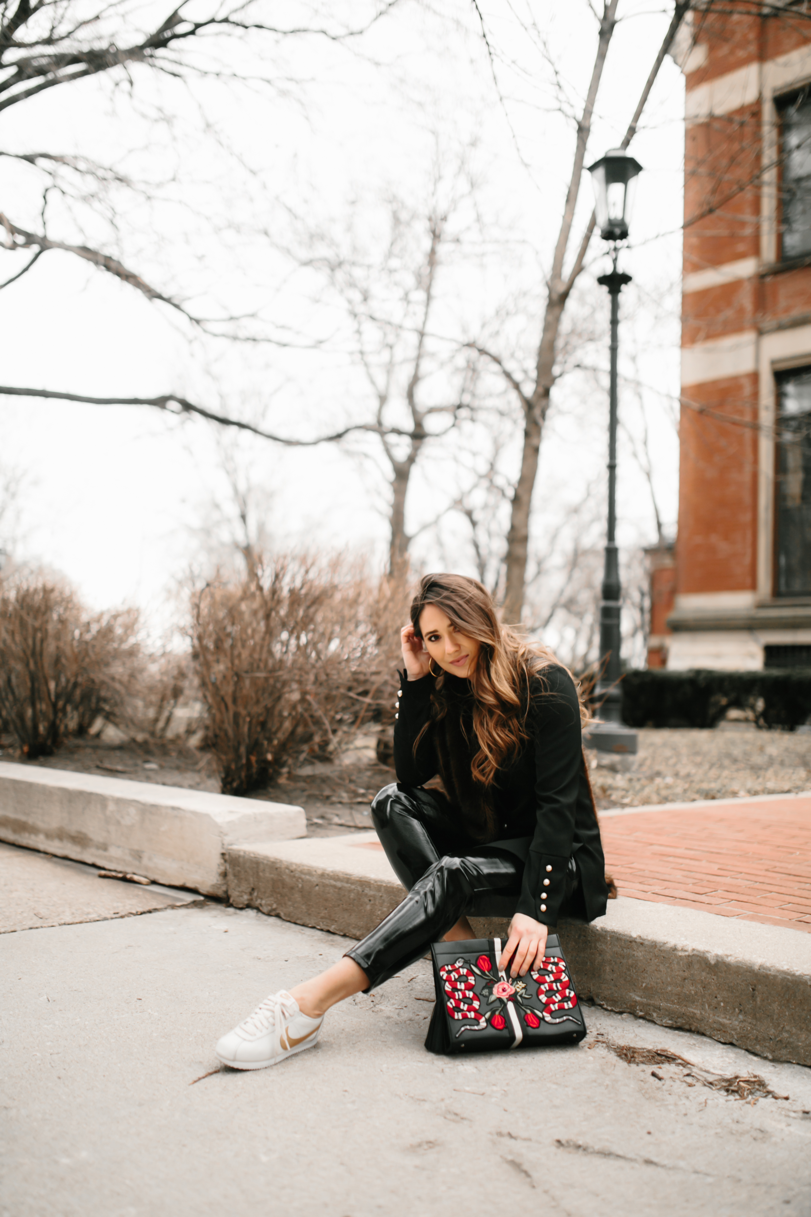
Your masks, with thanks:
<instances>
[{"instance_id":1,"label":"low dark clipped hedge in front of the brick building","mask_svg":"<svg viewBox=\"0 0 811 1217\"><path fill-rule=\"evenodd\" d=\"M793 730L811 720L811 668L654 668L626 672L620 688L629 727L715 727L733 707L751 711L762 728Z\"/></svg>"}]
</instances>

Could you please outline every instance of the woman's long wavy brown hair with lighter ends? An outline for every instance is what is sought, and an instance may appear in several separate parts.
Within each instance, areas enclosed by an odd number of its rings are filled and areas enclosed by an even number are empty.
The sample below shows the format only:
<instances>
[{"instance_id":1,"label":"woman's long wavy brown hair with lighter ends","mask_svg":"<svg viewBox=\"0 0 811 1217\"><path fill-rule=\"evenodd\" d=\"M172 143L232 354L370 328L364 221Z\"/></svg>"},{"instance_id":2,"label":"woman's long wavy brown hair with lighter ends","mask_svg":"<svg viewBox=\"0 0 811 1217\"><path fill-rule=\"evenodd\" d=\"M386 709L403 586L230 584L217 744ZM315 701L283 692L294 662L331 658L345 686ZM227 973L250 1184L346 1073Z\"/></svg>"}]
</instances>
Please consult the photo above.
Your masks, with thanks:
<instances>
[{"instance_id":1,"label":"woman's long wavy brown hair with lighter ends","mask_svg":"<svg viewBox=\"0 0 811 1217\"><path fill-rule=\"evenodd\" d=\"M524 641L509 626L502 626L488 589L464 574L426 574L419 581L411 601L411 624L422 638L419 615L427 605L435 605L449 621L468 638L480 644L479 656L471 674L473 694L473 729L479 751L473 757L475 781L490 786L506 761L517 756L529 738L529 686L531 677L541 677L544 668L557 663L548 646ZM437 678L432 694L432 720L447 713L444 694L445 674ZM581 701L581 717L587 718ZM416 746L428 730L426 723Z\"/></svg>"}]
</instances>

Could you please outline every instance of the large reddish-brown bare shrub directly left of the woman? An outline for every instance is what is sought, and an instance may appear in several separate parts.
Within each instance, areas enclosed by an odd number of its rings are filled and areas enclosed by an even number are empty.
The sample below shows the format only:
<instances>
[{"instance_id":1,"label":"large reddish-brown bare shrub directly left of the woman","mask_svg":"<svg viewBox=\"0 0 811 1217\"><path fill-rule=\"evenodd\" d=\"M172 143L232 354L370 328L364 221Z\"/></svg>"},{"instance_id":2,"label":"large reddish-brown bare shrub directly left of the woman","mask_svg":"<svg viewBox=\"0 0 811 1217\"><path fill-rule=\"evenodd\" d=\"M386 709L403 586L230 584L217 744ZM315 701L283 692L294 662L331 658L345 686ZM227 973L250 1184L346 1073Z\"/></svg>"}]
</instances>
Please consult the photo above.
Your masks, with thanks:
<instances>
[{"instance_id":1,"label":"large reddish-brown bare shrub directly left of the woman","mask_svg":"<svg viewBox=\"0 0 811 1217\"><path fill-rule=\"evenodd\" d=\"M393 705L398 596L340 556L289 555L192 596L193 661L225 793L255 790L303 751L328 755L337 731Z\"/></svg>"}]
</instances>

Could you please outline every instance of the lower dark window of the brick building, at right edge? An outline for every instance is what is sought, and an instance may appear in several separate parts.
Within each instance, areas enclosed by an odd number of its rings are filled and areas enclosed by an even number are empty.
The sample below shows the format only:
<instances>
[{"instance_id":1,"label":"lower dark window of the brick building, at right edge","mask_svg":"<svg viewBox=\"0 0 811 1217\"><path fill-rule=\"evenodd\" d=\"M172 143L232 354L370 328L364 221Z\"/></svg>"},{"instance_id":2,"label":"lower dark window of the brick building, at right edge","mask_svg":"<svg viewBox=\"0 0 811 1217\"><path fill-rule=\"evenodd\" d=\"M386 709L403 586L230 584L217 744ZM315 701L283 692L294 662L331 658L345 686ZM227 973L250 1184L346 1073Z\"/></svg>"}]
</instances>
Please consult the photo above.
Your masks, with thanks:
<instances>
[{"instance_id":1,"label":"lower dark window of the brick building, at right edge","mask_svg":"<svg viewBox=\"0 0 811 1217\"><path fill-rule=\"evenodd\" d=\"M777 376L776 595L811 595L811 368Z\"/></svg>"}]
</instances>

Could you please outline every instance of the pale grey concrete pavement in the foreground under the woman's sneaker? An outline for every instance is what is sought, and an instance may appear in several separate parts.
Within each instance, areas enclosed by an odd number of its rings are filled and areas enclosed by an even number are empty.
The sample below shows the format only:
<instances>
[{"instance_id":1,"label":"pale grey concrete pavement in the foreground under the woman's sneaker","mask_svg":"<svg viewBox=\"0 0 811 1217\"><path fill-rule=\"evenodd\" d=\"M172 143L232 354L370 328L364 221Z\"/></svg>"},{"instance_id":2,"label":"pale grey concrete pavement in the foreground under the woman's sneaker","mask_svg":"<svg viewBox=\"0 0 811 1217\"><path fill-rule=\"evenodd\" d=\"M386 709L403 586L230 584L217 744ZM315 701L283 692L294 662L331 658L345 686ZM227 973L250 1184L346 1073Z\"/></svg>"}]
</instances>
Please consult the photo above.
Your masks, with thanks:
<instances>
[{"instance_id":1,"label":"pale grey concrete pavement in the foreground under the woman's sneaker","mask_svg":"<svg viewBox=\"0 0 811 1217\"><path fill-rule=\"evenodd\" d=\"M0 935L1 1217L811 1211L809 1070L590 1008L579 1047L430 1056L424 961L314 1050L218 1069L224 1030L348 946L212 903ZM753 1073L788 1098L725 1090Z\"/></svg>"}]
</instances>

